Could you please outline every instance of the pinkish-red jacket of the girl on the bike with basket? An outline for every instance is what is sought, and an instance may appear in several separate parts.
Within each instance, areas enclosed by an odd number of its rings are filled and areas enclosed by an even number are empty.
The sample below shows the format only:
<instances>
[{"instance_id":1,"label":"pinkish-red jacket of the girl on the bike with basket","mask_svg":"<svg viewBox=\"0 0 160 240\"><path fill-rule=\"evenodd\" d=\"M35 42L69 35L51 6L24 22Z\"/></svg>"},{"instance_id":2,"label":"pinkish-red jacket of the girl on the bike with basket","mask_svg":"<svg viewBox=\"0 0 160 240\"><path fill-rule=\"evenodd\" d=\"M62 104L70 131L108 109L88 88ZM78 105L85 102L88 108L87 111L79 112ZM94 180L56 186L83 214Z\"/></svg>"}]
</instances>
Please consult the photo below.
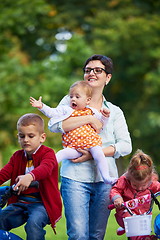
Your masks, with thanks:
<instances>
[{"instance_id":1,"label":"pinkish-red jacket of the girl on the bike with basket","mask_svg":"<svg viewBox=\"0 0 160 240\"><path fill-rule=\"evenodd\" d=\"M136 191L134 188L132 188L130 181L126 178L126 176L122 175L118 179L117 183L112 187L110 192L110 199L113 202L116 198L122 197L124 202L126 202L128 200L149 194L151 193L150 190L153 193L159 192L160 183L158 181L152 181L147 189L143 191ZM139 210L141 211L141 213L145 213L146 211L148 211L149 203L138 207L138 209L134 209L134 212L136 214L139 214ZM116 208L116 212L119 211L121 211L121 208Z\"/></svg>"}]
</instances>

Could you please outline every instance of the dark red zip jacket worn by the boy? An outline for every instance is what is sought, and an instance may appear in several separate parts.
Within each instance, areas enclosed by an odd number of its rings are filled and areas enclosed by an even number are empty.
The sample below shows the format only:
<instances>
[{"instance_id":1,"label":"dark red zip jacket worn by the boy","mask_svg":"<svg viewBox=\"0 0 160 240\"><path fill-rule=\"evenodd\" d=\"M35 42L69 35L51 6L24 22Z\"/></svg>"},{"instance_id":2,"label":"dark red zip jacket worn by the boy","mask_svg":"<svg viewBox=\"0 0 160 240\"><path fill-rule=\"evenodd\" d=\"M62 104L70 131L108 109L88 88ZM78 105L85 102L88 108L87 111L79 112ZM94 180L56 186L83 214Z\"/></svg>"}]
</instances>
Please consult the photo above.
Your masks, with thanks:
<instances>
[{"instance_id":1,"label":"dark red zip jacket worn by the boy","mask_svg":"<svg viewBox=\"0 0 160 240\"><path fill-rule=\"evenodd\" d=\"M32 155L34 170L31 172L39 182L39 191L43 204L50 218L51 226L61 218L62 202L58 188L58 163L54 151L42 145ZM27 159L24 150L15 152L10 161L0 170L0 185L11 179L10 185L15 183L19 175L25 174ZM17 196L9 199L9 204L17 202Z\"/></svg>"}]
</instances>

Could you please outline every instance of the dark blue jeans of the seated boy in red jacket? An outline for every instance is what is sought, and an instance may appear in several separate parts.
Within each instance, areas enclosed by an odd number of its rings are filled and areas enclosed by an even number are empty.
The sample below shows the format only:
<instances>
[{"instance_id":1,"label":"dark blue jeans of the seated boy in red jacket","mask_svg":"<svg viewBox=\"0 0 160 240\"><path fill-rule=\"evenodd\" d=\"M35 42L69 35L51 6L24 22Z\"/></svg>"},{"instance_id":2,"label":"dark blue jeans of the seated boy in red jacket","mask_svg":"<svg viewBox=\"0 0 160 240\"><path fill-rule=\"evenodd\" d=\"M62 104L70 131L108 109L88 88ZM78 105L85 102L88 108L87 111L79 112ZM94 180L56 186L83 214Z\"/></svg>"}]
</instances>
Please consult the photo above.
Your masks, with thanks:
<instances>
[{"instance_id":1,"label":"dark blue jeans of the seated boy in red jacket","mask_svg":"<svg viewBox=\"0 0 160 240\"><path fill-rule=\"evenodd\" d=\"M25 222L27 240L45 239L43 228L49 223L49 218L42 203L13 203L0 211L0 229L10 231Z\"/></svg>"}]
</instances>

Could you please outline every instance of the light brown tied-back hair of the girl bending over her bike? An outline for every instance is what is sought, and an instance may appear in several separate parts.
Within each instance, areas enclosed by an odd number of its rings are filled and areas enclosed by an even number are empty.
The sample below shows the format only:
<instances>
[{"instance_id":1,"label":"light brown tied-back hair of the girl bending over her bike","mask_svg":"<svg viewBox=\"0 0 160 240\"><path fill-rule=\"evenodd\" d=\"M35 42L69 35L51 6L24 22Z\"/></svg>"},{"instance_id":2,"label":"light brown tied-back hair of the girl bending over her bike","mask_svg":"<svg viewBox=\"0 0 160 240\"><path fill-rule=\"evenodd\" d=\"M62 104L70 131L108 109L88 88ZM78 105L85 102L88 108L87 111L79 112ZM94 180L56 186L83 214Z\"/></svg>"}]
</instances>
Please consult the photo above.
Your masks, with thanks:
<instances>
[{"instance_id":1,"label":"light brown tied-back hair of the girl bending over her bike","mask_svg":"<svg viewBox=\"0 0 160 240\"><path fill-rule=\"evenodd\" d=\"M147 176L152 177L153 172L154 166L151 157L138 149L128 166L128 178L143 181Z\"/></svg>"}]
</instances>

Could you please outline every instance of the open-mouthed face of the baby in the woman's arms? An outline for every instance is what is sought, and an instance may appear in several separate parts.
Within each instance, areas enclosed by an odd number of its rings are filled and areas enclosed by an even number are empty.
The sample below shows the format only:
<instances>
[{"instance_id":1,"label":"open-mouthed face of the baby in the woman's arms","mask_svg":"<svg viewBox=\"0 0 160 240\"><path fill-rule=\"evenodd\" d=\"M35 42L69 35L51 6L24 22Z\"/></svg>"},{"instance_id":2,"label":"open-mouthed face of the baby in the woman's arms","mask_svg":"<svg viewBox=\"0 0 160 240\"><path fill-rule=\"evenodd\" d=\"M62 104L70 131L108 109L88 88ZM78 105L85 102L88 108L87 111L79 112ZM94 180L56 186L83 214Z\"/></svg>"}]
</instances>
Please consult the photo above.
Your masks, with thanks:
<instances>
[{"instance_id":1,"label":"open-mouthed face of the baby in the woman's arms","mask_svg":"<svg viewBox=\"0 0 160 240\"><path fill-rule=\"evenodd\" d=\"M84 90L80 87L75 87L70 90L70 107L75 110L82 110L90 103L90 97L87 97Z\"/></svg>"}]
</instances>

